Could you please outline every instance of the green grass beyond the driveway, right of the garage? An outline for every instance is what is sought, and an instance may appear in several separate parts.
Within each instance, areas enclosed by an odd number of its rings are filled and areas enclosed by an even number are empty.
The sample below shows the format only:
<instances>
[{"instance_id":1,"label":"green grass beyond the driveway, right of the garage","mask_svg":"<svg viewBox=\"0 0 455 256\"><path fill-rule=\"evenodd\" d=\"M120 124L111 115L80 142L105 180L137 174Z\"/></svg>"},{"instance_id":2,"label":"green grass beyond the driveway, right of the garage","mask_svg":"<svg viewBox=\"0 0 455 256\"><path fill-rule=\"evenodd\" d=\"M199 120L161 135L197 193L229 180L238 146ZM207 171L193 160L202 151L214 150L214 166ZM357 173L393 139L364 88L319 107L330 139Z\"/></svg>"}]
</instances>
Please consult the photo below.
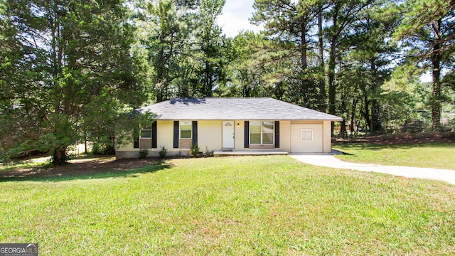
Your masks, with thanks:
<instances>
[{"instance_id":1,"label":"green grass beyond the driveway, right of the garage","mask_svg":"<svg viewBox=\"0 0 455 256\"><path fill-rule=\"evenodd\" d=\"M346 154L338 159L364 164L428 167L455 170L455 143L333 145Z\"/></svg>"}]
</instances>

